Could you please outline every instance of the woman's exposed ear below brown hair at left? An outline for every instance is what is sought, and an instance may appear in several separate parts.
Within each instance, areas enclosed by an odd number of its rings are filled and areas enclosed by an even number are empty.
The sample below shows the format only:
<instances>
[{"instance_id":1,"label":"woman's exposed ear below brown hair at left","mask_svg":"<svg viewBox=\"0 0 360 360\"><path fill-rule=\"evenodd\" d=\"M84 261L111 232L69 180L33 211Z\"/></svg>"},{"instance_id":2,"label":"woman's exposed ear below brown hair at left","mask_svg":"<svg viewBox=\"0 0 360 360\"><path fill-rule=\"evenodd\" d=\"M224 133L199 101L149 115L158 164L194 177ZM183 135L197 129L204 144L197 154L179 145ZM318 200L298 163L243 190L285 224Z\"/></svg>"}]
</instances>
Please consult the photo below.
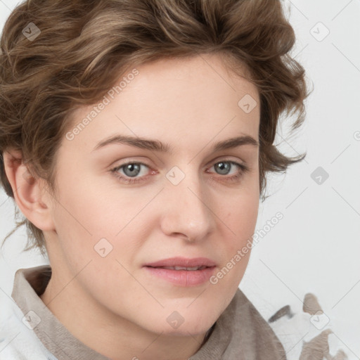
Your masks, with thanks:
<instances>
[{"instance_id":1,"label":"woman's exposed ear below brown hair at left","mask_svg":"<svg viewBox=\"0 0 360 360\"><path fill-rule=\"evenodd\" d=\"M51 194L44 188L44 179L37 179L30 174L21 151L5 150L3 158L5 173L21 212L42 231L53 230Z\"/></svg>"}]
</instances>

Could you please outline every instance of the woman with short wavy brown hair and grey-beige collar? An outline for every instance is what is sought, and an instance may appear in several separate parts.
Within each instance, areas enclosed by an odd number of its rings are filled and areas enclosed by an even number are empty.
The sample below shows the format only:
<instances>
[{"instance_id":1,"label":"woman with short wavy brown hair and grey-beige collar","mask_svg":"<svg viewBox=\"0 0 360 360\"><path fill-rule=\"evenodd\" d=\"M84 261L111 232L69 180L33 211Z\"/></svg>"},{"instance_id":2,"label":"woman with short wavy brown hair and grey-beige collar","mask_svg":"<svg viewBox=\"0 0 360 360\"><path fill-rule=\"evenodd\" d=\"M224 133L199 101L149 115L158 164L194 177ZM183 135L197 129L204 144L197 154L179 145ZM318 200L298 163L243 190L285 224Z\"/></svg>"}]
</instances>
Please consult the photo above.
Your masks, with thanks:
<instances>
[{"instance_id":1,"label":"woman with short wavy brown hair and grey-beige collar","mask_svg":"<svg viewBox=\"0 0 360 360\"><path fill-rule=\"evenodd\" d=\"M238 285L266 172L304 158L274 146L294 43L273 0L15 8L1 180L50 266L16 273L0 359L285 359Z\"/></svg>"}]
</instances>

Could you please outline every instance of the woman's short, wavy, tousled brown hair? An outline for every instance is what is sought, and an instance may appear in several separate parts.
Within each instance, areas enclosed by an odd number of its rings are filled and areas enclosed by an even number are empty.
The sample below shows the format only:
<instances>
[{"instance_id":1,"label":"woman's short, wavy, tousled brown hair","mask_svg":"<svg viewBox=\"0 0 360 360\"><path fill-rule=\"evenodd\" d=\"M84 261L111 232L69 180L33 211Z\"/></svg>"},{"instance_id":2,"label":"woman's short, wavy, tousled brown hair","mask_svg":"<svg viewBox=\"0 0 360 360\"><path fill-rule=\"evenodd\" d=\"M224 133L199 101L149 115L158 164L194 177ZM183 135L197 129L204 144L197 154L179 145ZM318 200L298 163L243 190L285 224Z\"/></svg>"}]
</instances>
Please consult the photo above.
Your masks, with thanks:
<instances>
[{"instance_id":1,"label":"woman's short, wavy, tousled brown hair","mask_svg":"<svg viewBox=\"0 0 360 360\"><path fill-rule=\"evenodd\" d=\"M41 31L32 41L23 32L30 23ZM264 200L266 172L285 172L306 155L288 158L274 146L283 113L297 114L293 130L304 121L307 86L289 55L294 44L280 0L27 0L1 35L0 155L21 150L30 172L55 191L56 153L75 108L98 101L129 67L221 53L234 74L245 64L259 91ZM14 198L2 156L0 179ZM44 254L42 231L26 218L16 224L13 231L26 224L25 250Z\"/></svg>"}]
</instances>

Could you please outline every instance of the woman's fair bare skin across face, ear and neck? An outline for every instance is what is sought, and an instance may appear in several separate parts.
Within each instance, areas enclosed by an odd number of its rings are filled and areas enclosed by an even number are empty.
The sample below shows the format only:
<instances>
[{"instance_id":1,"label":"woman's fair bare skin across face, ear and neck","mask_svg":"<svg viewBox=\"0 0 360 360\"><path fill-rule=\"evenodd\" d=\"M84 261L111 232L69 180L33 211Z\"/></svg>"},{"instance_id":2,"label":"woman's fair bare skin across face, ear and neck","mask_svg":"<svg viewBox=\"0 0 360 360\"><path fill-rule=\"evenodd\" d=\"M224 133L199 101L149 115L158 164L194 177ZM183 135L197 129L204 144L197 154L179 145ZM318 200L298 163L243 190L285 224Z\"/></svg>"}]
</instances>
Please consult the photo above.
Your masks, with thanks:
<instances>
[{"instance_id":1,"label":"woman's fair bare skin across face, ear and neck","mask_svg":"<svg viewBox=\"0 0 360 360\"><path fill-rule=\"evenodd\" d=\"M25 181L19 153L5 153L6 174L23 214L44 231L53 275L41 300L75 335L111 359L187 359L198 351L235 295L250 256L216 284L179 286L151 276L143 265L174 256L208 257L216 274L255 231L259 207L259 148L212 151L233 136L258 141L259 105L239 106L256 87L226 69L219 55L158 60L137 75L73 140L63 139L53 198L41 179ZM121 78L120 78L121 79ZM119 80L120 82L120 80ZM74 113L78 124L92 106ZM96 144L115 134L158 139L172 153ZM136 184L110 170L143 162ZM248 172L221 160L244 164ZM172 184L174 167L185 174ZM131 172L119 169L128 179ZM94 246L106 238L113 250ZM191 240L189 241L188 238ZM172 328L178 311L184 323Z\"/></svg>"}]
</instances>

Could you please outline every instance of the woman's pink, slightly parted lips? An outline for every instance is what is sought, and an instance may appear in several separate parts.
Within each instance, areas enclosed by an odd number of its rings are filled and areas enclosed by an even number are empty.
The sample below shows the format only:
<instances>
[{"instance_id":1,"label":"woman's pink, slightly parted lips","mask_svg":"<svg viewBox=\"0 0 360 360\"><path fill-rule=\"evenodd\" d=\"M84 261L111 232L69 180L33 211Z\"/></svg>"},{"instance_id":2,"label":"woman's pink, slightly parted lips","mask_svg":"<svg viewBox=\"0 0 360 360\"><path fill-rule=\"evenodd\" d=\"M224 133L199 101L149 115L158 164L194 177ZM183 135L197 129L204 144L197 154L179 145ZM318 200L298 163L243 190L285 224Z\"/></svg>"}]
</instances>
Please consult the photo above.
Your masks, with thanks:
<instances>
[{"instance_id":1,"label":"woman's pink, slightly parted lips","mask_svg":"<svg viewBox=\"0 0 360 360\"><path fill-rule=\"evenodd\" d=\"M201 270L172 270L162 269L160 266L207 266ZM209 281L214 274L216 268L215 262L207 257L195 257L188 259L186 257L172 257L169 259L162 259L158 262L152 262L143 266L148 274L157 276L163 280L169 281L179 286L197 286Z\"/></svg>"}]
</instances>

